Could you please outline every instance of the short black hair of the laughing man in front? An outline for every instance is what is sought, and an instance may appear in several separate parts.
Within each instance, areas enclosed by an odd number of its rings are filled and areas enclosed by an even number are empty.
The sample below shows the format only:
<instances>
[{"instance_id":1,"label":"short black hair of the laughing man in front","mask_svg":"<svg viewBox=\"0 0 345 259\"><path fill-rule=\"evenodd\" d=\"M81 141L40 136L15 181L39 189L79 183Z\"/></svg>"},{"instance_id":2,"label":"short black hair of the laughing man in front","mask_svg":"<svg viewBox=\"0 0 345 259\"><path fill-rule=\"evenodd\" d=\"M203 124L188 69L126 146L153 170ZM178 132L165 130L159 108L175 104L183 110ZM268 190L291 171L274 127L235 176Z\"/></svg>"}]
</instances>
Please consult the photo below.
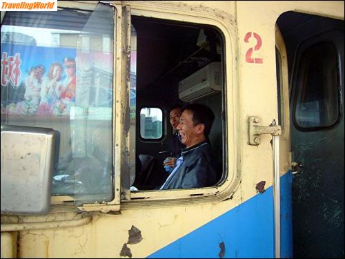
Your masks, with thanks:
<instances>
[{"instance_id":1,"label":"short black hair of the laughing man in front","mask_svg":"<svg viewBox=\"0 0 345 259\"><path fill-rule=\"evenodd\" d=\"M204 104L187 104L184 106L183 111L191 111L193 113L193 123L194 125L197 124L204 124L205 125L205 137L208 137L210 134L213 121L215 120L215 115L213 111Z\"/></svg>"}]
</instances>

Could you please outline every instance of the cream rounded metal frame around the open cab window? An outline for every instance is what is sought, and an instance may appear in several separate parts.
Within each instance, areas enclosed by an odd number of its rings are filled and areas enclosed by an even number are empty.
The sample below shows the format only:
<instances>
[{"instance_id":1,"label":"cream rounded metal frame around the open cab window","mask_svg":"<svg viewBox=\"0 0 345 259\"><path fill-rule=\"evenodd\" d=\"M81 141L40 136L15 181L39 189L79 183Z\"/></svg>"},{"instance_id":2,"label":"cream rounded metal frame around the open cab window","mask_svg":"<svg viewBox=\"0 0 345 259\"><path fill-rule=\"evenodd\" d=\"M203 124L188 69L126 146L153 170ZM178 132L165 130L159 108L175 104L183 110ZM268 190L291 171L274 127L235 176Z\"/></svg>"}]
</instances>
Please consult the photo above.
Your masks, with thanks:
<instances>
[{"instance_id":1,"label":"cream rounded metal frame around the open cab window","mask_svg":"<svg viewBox=\"0 0 345 259\"><path fill-rule=\"evenodd\" d=\"M148 2L146 2L148 3ZM233 72L235 68L235 57L237 57L237 36L235 28L231 23L224 22L224 19L217 16L217 10L209 12L202 8L190 8L181 7L174 8L174 3L130 3L131 15L165 19L169 22L181 23L181 21L190 23L191 25L209 26L217 30L219 36L221 36L222 46L222 61L221 69L223 73L223 93L222 93L222 124L223 127L223 176L221 182L218 185L210 186L199 189L177 189L177 190L164 190L164 191L127 191L123 197L123 200L128 202L121 204L121 207L136 207L142 206L147 202L148 204L161 204L163 200L169 200L169 202L181 204L183 202L205 202L223 200L224 197L228 197L231 193L235 192L235 189L239 186L240 175L236 170L238 159L237 157L237 133L234 127L237 125L237 119L234 114L237 111L237 100L234 98L237 96L237 75ZM233 55L227 55L227 53ZM229 78L230 85L227 86L227 78ZM227 92L230 95L227 95ZM228 96L228 99L226 99ZM231 105L229 105L229 103ZM229 116L230 115L230 116ZM231 119L230 119L231 118ZM229 162L230 161L230 162ZM130 204L130 205L129 205Z\"/></svg>"}]
</instances>

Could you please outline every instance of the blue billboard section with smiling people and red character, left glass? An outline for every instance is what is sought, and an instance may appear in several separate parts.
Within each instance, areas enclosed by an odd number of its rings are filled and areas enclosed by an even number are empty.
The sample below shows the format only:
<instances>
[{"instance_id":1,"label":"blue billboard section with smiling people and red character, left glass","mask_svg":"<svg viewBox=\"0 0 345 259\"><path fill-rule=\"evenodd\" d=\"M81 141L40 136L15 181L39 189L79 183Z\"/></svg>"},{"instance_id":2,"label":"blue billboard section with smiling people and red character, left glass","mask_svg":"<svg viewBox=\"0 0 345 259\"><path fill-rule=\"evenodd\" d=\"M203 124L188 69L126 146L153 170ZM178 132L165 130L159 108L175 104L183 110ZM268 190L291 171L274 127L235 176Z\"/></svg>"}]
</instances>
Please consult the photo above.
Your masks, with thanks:
<instances>
[{"instance_id":1,"label":"blue billboard section with smiling people and red character, left glass","mask_svg":"<svg viewBox=\"0 0 345 259\"><path fill-rule=\"evenodd\" d=\"M75 101L76 50L1 44L1 114L61 115Z\"/></svg>"}]
</instances>

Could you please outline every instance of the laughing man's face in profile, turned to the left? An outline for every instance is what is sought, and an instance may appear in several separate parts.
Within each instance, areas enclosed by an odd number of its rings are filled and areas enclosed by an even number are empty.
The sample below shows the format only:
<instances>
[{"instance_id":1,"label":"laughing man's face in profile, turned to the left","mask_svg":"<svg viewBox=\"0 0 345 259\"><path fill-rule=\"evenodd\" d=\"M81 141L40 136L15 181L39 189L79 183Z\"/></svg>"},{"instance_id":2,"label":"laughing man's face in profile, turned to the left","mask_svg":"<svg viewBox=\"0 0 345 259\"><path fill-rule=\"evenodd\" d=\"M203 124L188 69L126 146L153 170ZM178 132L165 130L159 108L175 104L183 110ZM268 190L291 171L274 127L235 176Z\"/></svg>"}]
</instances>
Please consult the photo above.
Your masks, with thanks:
<instances>
[{"instance_id":1,"label":"laughing man's face in profile, turned to the left","mask_svg":"<svg viewBox=\"0 0 345 259\"><path fill-rule=\"evenodd\" d=\"M200 137L200 124L194 125L193 112L185 110L179 118L177 130L181 137L181 142L187 147L198 143Z\"/></svg>"}]
</instances>

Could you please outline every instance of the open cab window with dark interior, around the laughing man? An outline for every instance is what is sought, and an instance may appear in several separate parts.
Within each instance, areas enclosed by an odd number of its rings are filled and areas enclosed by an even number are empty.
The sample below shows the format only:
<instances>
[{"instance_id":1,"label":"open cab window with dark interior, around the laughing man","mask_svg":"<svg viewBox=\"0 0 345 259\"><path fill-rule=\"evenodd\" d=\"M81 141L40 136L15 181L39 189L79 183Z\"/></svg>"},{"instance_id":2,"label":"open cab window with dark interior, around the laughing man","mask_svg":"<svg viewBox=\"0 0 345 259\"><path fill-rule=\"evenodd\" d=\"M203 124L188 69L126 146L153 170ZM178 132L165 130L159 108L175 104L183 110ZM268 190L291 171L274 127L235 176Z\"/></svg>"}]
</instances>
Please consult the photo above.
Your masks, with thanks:
<instances>
[{"instance_id":1,"label":"open cab window with dark interior, around the laughing man","mask_svg":"<svg viewBox=\"0 0 345 259\"><path fill-rule=\"evenodd\" d=\"M132 39L136 44L135 102L136 107L143 107L137 109L130 124L136 128L135 135L130 135L130 143L135 143L135 155L130 154L130 168L135 165L132 186L139 189L131 189L135 191L131 199L141 198L137 191L159 190L175 168L164 166L164 160L178 160L181 151L175 149L184 148L176 124L169 119L170 110L177 105L204 104L213 111L215 119L208 135L213 156L207 159L217 167L212 186L219 184L224 179L226 157L221 33L200 24L135 15L131 19L136 35Z\"/></svg>"}]
</instances>

